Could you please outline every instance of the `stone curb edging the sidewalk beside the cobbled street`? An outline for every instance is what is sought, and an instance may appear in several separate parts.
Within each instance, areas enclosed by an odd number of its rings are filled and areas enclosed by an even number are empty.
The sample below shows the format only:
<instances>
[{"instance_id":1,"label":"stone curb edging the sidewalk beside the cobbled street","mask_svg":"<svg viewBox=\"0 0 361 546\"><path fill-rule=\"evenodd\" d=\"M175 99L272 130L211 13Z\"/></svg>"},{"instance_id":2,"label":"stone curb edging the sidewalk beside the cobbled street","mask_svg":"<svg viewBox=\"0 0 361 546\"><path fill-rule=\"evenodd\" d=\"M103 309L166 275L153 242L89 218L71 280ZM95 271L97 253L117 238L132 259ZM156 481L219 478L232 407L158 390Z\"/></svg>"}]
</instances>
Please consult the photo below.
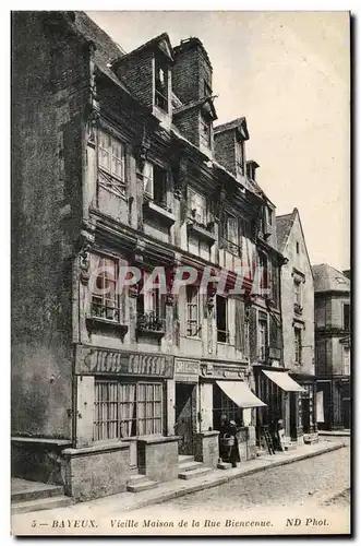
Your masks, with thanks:
<instances>
[{"instance_id":1,"label":"stone curb edging the sidewalk beside the cobbled street","mask_svg":"<svg viewBox=\"0 0 361 546\"><path fill-rule=\"evenodd\" d=\"M291 464L291 463L297 463L299 461L303 461L306 459L312 459L313 456L317 455L323 455L325 453L329 453L330 451L336 451L341 448L346 448L347 444L339 442L339 443L334 443L327 448L323 448L322 450L314 452L314 453L304 453L300 455L294 455L292 459L285 460L285 461L274 461L269 462L268 464L265 464L264 466L260 466L257 468L250 468L250 470L241 470L238 473L227 475L227 476L219 476L214 479L212 483L203 483L203 484L196 484L196 485L189 485L186 489L179 489L176 491L167 491L159 497L155 497L154 499L144 499L144 500L139 500L136 505L132 507L124 507L123 512L132 512L134 510L139 510L141 508L149 507L152 505L160 505L161 502L166 502L167 500L171 499L177 499L179 497L184 497L185 495L190 495L192 492L198 492L204 489L210 489L213 487L217 487L219 485L227 484L228 482L231 482L233 479L238 479L240 477L245 477L245 476L251 476L252 474L256 474L257 472L263 472L268 468L275 468L276 466L285 466L286 464ZM222 471L227 472L227 471Z\"/></svg>"}]
</instances>

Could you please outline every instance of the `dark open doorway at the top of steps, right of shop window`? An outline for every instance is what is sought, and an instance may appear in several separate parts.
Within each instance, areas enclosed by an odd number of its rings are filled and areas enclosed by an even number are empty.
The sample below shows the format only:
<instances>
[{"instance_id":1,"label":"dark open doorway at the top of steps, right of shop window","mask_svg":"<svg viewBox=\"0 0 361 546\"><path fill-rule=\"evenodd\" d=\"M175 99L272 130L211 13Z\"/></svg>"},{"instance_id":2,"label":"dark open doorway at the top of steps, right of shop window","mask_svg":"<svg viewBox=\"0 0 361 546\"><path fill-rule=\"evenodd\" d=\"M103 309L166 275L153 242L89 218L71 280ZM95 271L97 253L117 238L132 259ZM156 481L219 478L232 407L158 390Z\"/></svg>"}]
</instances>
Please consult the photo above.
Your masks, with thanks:
<instances>
[{"instance_id":1,"label":"dark open doorway at the top of steps, right of shop window","mask_svg":"<svg viewBox=\"0 0 361 546\"><path fill-rule=\"evenodd\" d=\"M179 454L193 455L193 431L196 430L196 384L176 382L176 436Z\"/></svg>"}]
</instances>

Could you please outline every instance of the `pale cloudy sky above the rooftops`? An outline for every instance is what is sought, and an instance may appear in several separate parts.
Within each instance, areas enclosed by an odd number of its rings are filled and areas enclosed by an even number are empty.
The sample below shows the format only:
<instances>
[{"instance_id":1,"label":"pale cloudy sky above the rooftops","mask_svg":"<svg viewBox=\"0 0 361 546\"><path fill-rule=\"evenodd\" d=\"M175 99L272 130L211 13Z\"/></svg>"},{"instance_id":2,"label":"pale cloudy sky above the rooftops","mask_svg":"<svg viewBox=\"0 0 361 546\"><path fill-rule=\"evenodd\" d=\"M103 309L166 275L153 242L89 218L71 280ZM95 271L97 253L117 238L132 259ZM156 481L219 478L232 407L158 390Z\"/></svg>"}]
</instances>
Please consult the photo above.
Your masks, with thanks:
<instances>
[{"instance_id":1,"label":"pale cloudy sky above the rooftops","mask_svg":"<svg viewBox=\"0 0 361 546\"><path fill-rule=\"evenodd\" d=\"M246 118L246 156L277 214L298 207L313 264L349 269L347 12L87 14L125 51L164 32L172 46L198 37L213 64L216 124Z\"/></svg>"}]
</instances>

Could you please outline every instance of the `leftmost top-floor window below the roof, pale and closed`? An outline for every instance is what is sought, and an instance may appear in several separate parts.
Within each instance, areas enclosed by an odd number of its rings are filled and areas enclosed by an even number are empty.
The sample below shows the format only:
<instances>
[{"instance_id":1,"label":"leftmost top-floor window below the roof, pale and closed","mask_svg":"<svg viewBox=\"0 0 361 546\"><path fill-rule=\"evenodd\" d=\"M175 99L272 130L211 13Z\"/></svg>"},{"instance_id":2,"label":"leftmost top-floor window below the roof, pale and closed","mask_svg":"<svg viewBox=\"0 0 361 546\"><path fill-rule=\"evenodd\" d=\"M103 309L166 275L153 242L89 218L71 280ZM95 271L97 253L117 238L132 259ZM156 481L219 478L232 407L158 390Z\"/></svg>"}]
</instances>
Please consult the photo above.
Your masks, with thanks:
<instances>
[{"instance_id":1,"label":"leftmost top-floor window below the roof, pale and closed","mask_svg":"<svg viewBox=\"0 0 361 546\"><path fill-rule=\"evenodd\" d=\"M100 183L123 194L125 191L124 145L101 130L98 141L98 163Z\"/></svg>"}]
</instances>

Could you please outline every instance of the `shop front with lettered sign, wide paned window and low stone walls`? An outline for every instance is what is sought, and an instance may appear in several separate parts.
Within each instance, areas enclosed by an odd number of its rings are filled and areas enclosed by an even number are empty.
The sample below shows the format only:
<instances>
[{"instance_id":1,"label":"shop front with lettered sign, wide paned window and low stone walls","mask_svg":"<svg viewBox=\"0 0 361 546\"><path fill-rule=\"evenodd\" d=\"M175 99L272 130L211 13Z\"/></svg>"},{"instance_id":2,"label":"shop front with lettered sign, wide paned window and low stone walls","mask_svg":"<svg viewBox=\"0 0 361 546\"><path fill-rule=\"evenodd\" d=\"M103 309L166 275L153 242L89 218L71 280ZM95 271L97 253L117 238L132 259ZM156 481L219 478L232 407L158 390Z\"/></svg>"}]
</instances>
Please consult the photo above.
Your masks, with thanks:
<instances>
[{"instance_id":1,"label":"shop front with lettered sign, wide paned window and low stone walls","mask_svg":"<svg viewBox=\"0 0 361 546\"><path fill-rule=\"evenodd\" d=\"M68 495L121 492L136 473L177 477L173 375L170 355L76 347L74 447L62 452Z\"/></svg>"}]
</instances>

